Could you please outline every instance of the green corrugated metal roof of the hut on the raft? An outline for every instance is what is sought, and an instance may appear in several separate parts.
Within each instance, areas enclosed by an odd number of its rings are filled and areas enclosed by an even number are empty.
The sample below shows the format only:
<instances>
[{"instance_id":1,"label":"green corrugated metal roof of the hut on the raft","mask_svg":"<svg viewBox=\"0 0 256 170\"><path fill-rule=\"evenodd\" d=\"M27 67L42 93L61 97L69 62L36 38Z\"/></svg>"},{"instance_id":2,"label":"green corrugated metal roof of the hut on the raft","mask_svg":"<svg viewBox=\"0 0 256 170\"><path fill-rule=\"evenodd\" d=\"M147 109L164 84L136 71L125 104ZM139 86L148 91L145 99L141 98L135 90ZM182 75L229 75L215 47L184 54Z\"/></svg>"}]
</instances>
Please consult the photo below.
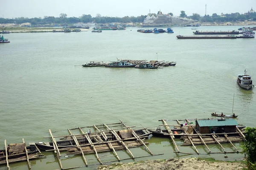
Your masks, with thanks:
<instances>
[{"instance_id":1,"label":"green corrugated metal roof of the hut on the raft","mask_svg":"<svg viewBox=\"0 0 256 170\"><path fill-rule=\"evenodd\" d=\"M200 127L238 125L235 119L197 120L197 122Z\"/></svg>"}]
</instances>

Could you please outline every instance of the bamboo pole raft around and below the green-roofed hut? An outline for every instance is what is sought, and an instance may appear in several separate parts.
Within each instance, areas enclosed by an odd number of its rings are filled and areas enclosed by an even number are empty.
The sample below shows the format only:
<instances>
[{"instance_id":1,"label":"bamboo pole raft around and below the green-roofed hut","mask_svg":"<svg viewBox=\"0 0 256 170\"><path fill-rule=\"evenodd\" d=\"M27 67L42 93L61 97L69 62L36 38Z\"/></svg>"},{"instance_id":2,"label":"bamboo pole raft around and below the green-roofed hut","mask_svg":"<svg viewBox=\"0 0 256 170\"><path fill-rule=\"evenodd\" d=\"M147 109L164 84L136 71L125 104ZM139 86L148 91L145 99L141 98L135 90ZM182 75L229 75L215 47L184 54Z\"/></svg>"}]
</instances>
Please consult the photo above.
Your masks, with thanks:
<instances>
[{"instance_id":1,"label":"bamboo pole raft around and below the green-roofed hut","mask_svg":"<svg viewBox=\"0 0 256 170\"><path fill-rule=\"evenodd\" d=\"M165 119L159 120L159 121L163 122L163 125L159 125L159 126L165 127L165 129L168 132L168 133L166 133L166 132L162 133L162 135L170 136L170 138L172 139L172 143L175 145L176 150L174 151L174 153L194 154L194 153L180 152L180 150L178 149L177 144L174 140L175 136L180 136L180 139L183 140L183 144L181 144L180 146L192 145L197 154L199 154L199 152L198 152L197 148L195 147L195 145L198 145L198 144L204 144L205 147L207 147L207 149L209 150L208 153L238 153L239 152L233 143L243 141L245 139L245 136L244 136L243 132L237 126L235 127L236 132L232 132L232 133L201 134L196 129L196 126L192 125L192 123L189 120L199 120L199 119L171 120L171 121L176 121L177 125L168 125L166 123ZM208 119L201 119L201 120L210 120L210 119L208 118ZM225 120L225 119L222 118L222 120ZM184 128L183 124L181 124L180 121L186 121L187 125L185 125L185 126L188 127L188 129ZM172 128L173 130L183 128L184 129L183 134L177 134L177 133L174 134L174 132L171 130L170 127L174 127L174 128ZM244 127L244 126L241 126L241 127ZM189 132L189 129L191 129L191 128L193 129L192 133L191 133L191 130ZM158 133L158 135L159 135L159 127L157 130L158 131L156 132L156 134ZM195 132L195 134L193 133L193 131ZM152 133L154 135L154 132L152 132ZM227 152L225 150L225 148L221 145L221 143L230 143L234 151ZM209 149L207 144L218 144L221 147L221 152L211 152L211 150Z\"/></svg>"}]
</instances>

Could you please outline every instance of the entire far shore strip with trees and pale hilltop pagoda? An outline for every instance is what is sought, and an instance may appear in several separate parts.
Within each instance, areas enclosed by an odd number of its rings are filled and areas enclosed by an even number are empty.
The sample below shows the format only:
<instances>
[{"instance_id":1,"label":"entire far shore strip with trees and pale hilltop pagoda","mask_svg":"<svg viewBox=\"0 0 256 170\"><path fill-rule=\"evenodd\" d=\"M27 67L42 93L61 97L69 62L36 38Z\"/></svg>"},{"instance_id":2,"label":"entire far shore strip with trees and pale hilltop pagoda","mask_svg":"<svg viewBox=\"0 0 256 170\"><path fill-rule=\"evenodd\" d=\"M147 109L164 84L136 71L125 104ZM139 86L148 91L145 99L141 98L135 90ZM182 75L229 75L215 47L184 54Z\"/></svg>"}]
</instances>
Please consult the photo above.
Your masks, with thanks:
<instances>
[{"instance_id":1,"label":"entire far shore strip with trees and pale hilltop pagoda","mask_svg":"<svg viewBox=\"0 0 256 170\"><path fill-rule=\"evenodd\" d=\"M191 16L186 15L186 11L180 11L179 16L174 16L172 12L164 13L158 11L157 13L148 13L147 15L140 15L137 17L104 17L101 14L96 14L92 17L90 14L82 14L80 17L68 17L67 14L61 13L59 17L44 16L35 18L0 18L0 26L73 26L76 23L96 23L99 26L104 26L109 23L122 23L125 26L146 26L154 24L168 24L170 26L183 25L187 23L221 23L221 22L243 22L256 21L256 12L250 8L244 14L239 12L231 14L205 14L201 16L193 13Z\"/></svg>"}]
</instances>

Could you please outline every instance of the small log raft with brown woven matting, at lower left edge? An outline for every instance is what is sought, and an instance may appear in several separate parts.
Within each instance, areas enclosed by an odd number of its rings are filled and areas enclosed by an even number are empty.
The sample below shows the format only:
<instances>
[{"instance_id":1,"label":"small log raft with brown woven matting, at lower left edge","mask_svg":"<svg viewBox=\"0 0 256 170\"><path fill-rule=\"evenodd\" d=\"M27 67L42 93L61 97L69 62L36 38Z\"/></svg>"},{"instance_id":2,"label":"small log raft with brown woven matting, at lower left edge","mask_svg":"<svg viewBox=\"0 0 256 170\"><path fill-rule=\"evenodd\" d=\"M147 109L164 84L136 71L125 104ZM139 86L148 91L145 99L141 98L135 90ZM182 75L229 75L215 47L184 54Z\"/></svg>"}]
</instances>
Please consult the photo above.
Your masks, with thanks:
<instances>
[{"instance_id":1,"label":"small log raft with brown woven matting, at lower left edge","mask_svg":"<svg viewBox=\"0 0 256 170\"><path fill-rule=\"evenodd\" d=\"M26 151L29 155L29 159L37 159L44 158L43 154L37 154L40 152L35 147L35 144L30 143L30 146L26 146L26 143L16 143L16 144L8 144L7 146L7 154L8 154L8 162L17 162L17 161L26 161ZM0 150L0 164L6 164L6 150Z\"/></svg>"}]
</instances>

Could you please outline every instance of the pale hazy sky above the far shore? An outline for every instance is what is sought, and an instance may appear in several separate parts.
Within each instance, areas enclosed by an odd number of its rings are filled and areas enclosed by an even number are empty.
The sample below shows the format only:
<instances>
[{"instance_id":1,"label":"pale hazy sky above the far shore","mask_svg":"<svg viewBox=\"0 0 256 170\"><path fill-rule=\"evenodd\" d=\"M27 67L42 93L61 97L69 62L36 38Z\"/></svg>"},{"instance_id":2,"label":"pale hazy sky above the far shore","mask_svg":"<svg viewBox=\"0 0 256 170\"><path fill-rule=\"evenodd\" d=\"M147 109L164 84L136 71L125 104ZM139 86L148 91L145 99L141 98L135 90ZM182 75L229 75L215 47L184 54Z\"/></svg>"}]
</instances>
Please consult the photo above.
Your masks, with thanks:
<instances>
[{"instance_id":1,"label":"pale hazy sky above the far shore","mask_svg":"<svg viewBox=\"0 0 256 170\"><path fill-rule=\"evenodd\" d=\"M245 13L253 7L256 10L256 0L0 0L0 17L79 17L82 14L96 14L108 17L140 16L149 13L163 14L172 12L175 16L180 11L187 15Z\"/></svg>"}]
</instances>

